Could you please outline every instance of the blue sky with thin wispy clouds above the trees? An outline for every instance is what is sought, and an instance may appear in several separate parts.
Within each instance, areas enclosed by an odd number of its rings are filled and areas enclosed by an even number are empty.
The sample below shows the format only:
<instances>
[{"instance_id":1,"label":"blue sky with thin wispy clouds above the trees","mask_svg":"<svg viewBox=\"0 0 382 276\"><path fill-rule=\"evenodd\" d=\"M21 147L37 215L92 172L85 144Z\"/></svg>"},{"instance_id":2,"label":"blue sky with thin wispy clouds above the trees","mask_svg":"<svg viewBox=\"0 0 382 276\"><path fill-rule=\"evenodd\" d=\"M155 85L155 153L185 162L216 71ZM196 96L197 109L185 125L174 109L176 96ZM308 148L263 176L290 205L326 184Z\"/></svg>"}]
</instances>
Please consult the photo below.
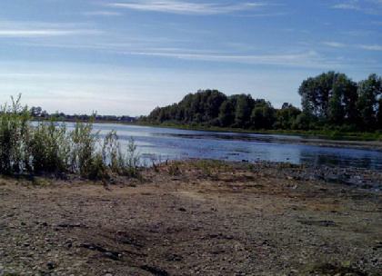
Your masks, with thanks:
<instances>
[{"instance_id":1,"label":"blue sky with thin wispy clouds above the trees","mask_svg":"<svg viewBox=\"0 0 382 276\"><path fill-rule=\"evenodd\" d=\"M382 0L1 0L0 104L147 115L186 94L300 107L327 71L382 75Z\"/></svg>"}]
</instances>

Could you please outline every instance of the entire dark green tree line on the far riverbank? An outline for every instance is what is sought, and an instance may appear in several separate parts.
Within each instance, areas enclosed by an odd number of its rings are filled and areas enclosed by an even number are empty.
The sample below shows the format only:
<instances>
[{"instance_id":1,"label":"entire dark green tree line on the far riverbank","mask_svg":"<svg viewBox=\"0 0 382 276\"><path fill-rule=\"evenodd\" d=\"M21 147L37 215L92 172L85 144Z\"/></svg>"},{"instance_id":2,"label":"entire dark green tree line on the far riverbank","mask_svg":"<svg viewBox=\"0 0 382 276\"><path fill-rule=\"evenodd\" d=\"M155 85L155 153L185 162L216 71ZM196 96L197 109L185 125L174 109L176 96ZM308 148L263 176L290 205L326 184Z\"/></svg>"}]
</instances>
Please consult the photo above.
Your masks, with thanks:
<instances>
[{"instance_id":1,"label":"entire dark green tree line on the far riverbank","mask_svg":"<svg viewBox=\"0 0 382 276\"><path fill-rule=\"evenodd\" d=\"M329 71L304 80L298 94L301 109L288 103L276 109L250 94L227 96L218 90L199 90L187 94L178 104L156 107L139 122L247 130L382 129L382 79L377 74L356 83L346 74Z\"/></svg>"}]
</instances>

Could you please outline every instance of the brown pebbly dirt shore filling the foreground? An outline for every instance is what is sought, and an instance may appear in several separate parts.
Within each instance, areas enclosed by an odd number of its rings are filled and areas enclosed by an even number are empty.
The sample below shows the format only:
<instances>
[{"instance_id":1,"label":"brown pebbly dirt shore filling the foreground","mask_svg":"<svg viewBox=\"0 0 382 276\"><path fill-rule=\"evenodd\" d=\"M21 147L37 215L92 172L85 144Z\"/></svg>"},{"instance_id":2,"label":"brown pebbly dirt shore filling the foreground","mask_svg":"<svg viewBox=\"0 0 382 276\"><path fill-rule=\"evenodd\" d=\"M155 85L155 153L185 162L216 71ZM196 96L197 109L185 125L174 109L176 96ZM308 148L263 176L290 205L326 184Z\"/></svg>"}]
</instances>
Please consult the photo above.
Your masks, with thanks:
<instances>
[{"instance_id":1,"label":"brown pebbly dirt shore filling the foreground","mask_svg":"<svg viewBox=\"0 0 382 276\"><path fill-rule=\"evenodd\" d=\"M382 173L189 162L142 174L0 179L0 275L382 275Z\"/></svg>"}]
</instances>

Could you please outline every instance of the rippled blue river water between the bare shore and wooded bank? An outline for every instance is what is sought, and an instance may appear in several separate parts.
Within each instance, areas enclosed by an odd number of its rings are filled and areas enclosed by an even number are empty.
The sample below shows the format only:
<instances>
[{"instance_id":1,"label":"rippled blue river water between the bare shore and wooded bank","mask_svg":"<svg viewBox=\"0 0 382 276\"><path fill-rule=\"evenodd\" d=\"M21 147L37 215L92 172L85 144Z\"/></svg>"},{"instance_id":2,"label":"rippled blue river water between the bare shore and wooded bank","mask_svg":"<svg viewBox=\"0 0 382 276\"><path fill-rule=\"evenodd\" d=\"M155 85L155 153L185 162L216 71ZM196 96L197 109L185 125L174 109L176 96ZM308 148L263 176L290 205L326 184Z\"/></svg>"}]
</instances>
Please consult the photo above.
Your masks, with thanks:
<instances>
[{"instance_id":1,"label":"rippled blue river water between the bare shore and wooded bank","mask_svg":"<svg viewBox=\"0 0 382 276\"><path fill-rule=\"evenodd\" d=\"M298 144L299 136L215 133L95 123L101 137L116 130L125 147L133 138L144 163L189 158L337 165L382 172L382 151ZM287 143L290 141L290 143Z\"/></svg>"}]
</instances>

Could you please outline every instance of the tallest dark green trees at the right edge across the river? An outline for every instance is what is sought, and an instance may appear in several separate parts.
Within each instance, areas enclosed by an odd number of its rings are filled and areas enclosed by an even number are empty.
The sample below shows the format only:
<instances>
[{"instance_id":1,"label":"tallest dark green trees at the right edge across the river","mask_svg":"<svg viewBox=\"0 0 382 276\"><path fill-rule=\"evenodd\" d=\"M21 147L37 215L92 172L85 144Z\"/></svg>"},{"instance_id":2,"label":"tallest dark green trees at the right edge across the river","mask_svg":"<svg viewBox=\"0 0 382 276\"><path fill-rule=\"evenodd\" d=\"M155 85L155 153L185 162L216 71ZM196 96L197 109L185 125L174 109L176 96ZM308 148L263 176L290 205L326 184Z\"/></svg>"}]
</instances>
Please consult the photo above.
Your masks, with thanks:
<instances>
[{"instance_id":1,"label":"tallest dark green trees at the right edge across the river","mask_svg":"<svg viewBox=\"0 0 382 276\"><path fill-rule=\"evenodd\" d=\"M303 114L297 128L367 132L382 128L382 79L376 74L356 84L346 74L330 71L305 80L298 93Z\"/></svg>"}]
</instances>

